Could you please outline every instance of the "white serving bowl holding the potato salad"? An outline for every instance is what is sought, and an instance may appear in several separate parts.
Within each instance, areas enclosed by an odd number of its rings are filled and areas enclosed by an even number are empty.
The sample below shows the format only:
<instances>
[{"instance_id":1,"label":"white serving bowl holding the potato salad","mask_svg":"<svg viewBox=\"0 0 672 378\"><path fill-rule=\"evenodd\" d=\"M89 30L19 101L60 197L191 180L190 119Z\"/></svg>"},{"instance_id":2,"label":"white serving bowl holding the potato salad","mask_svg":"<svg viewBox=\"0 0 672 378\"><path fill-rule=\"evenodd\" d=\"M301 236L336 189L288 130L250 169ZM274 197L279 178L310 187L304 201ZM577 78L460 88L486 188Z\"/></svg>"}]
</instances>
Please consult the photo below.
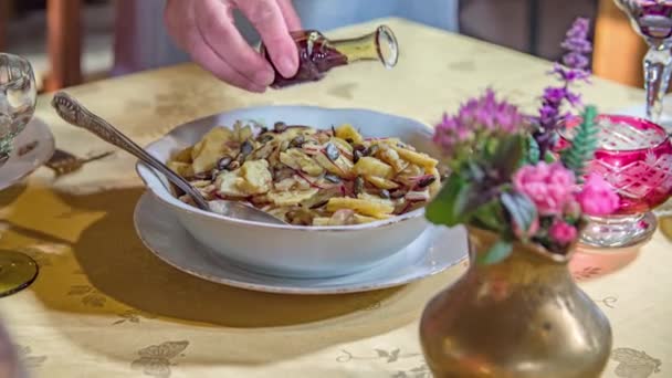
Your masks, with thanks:
<instances>
[{"instance_id":1,"label":"white serving bowl holding the potato salad","mask_svg":"<svg viewBox=\"0 0 672 378\"><path fill-rule=\"evenodd\" d=\"M266 126L282 120L328 129L351 124L365 137L399 137L432 154L432 129L419 122L365 111L313 106L263 106L237 109L181 125L147 147L166 162L212 127L250 119ZM199 210L174 197L168 180L138 162L137 172L159 202L172 211L196 240L212 253L249 270L285 277L329 277L370 269L416 240L428 227L424 210L346 227L296 227L250 222Z\"/></svg>"}]
</instances>

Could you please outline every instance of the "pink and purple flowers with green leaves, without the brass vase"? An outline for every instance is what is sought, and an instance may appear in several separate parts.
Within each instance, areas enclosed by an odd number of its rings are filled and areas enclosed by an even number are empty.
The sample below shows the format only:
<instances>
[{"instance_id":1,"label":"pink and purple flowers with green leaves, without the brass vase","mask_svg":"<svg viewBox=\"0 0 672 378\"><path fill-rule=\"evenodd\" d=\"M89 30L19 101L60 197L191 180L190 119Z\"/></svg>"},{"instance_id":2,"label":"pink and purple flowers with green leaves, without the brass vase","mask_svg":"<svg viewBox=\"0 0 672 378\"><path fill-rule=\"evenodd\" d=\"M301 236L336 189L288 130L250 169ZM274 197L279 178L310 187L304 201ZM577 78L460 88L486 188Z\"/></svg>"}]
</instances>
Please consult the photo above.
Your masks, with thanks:
<instances>
[{"instance_id":1,"label":"pink and purple flowers with green leaves, without the brass vase","mask_svg":"<svg viewBox=\"0 0 672 378\"><path fill-rule=\"evenodd\" d=\"M605 216L618 207L608 183L584 172L596 150L597 111L581 105L573 85L589 81L588 28L588 20L578 19L568 31L563 43L568 52L550 72L561 84L544 91L538 115L524 115L487 90L437 125L434 141L448 158L450 176L427 218L496 233L497 243L480 262L502 261L514 242L567 254L585 214ZM571 116L563 113L567 108L580 112L582 123L571 146L558 153L558 132Z\"/></svg>"}]
</instances>

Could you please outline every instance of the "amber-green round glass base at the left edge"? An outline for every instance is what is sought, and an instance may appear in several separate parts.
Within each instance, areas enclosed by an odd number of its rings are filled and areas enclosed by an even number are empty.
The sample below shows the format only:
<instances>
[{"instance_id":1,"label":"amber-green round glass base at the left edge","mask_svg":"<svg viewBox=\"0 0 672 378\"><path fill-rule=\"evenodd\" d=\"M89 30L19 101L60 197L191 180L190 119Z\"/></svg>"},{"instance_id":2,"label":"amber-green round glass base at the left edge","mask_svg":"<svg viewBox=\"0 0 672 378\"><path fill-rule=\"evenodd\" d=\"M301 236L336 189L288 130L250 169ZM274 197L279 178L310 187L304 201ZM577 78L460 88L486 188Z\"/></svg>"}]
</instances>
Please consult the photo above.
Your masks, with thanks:
<instances>
[{"instance_id":1,"label":"amber-green round glass base at the left edge","mask_svg":"<svg viewBox=\"0 0 672 378\"><path fill-rule=\"evenodd\" d=\"M29 255L0 251L0 297L28 287L38 277L38 263Z\"/></svg>"}]
</instances>

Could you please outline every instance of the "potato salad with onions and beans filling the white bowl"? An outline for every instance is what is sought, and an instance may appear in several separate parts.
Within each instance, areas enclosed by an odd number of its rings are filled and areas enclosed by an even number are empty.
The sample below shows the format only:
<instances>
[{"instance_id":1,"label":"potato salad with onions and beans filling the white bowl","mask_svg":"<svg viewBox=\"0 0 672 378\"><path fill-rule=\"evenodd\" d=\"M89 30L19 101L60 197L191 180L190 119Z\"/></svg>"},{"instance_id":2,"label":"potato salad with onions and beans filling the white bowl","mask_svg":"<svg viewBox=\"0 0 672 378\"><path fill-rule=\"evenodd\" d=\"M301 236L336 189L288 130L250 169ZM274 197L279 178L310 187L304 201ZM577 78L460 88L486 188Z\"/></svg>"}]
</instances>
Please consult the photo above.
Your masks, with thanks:
<instances>
[{"instance_id":1,"label":"potato salad with onions and beans filling the white bowl","mask_svg":"<svg viewBox=\"0 0 672 378\"><path fill-rule=\"evenodd\" d=\"M440 189L438 160L353 125L214 127L168 167L209 199L246 201L291 224L351 225L418 209ZM188 196L177 193L190 203Z\"/></svg>"}]
</instances>

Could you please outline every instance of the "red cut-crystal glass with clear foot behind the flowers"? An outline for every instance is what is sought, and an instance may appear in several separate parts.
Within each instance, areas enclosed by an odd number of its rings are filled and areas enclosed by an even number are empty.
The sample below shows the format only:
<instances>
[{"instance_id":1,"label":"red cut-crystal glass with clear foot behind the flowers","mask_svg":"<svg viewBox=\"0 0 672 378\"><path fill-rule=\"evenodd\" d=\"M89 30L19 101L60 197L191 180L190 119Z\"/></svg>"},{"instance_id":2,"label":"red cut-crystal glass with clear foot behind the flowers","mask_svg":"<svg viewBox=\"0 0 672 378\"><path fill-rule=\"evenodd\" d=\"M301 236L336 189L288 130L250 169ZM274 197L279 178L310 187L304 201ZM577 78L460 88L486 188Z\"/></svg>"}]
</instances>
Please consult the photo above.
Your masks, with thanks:
<instances>
[{"instance_id":1,"label":"red cut-crystal glass with clear foot behind the flowers","mask_svg":"<svg viewBox=\"0 0 672 378\"><path fill-rule=\"evenodd\" d=\"M559 148L571 143L568 122ZM618 210L609 217L590 217L581 242L595 248L627 248L647 241L657 227L651 212L672 195L672 144L659 125L636 117L600 115L595 158L586 174L598 174L619 196Z\"/></svg>"}]
</instances>

